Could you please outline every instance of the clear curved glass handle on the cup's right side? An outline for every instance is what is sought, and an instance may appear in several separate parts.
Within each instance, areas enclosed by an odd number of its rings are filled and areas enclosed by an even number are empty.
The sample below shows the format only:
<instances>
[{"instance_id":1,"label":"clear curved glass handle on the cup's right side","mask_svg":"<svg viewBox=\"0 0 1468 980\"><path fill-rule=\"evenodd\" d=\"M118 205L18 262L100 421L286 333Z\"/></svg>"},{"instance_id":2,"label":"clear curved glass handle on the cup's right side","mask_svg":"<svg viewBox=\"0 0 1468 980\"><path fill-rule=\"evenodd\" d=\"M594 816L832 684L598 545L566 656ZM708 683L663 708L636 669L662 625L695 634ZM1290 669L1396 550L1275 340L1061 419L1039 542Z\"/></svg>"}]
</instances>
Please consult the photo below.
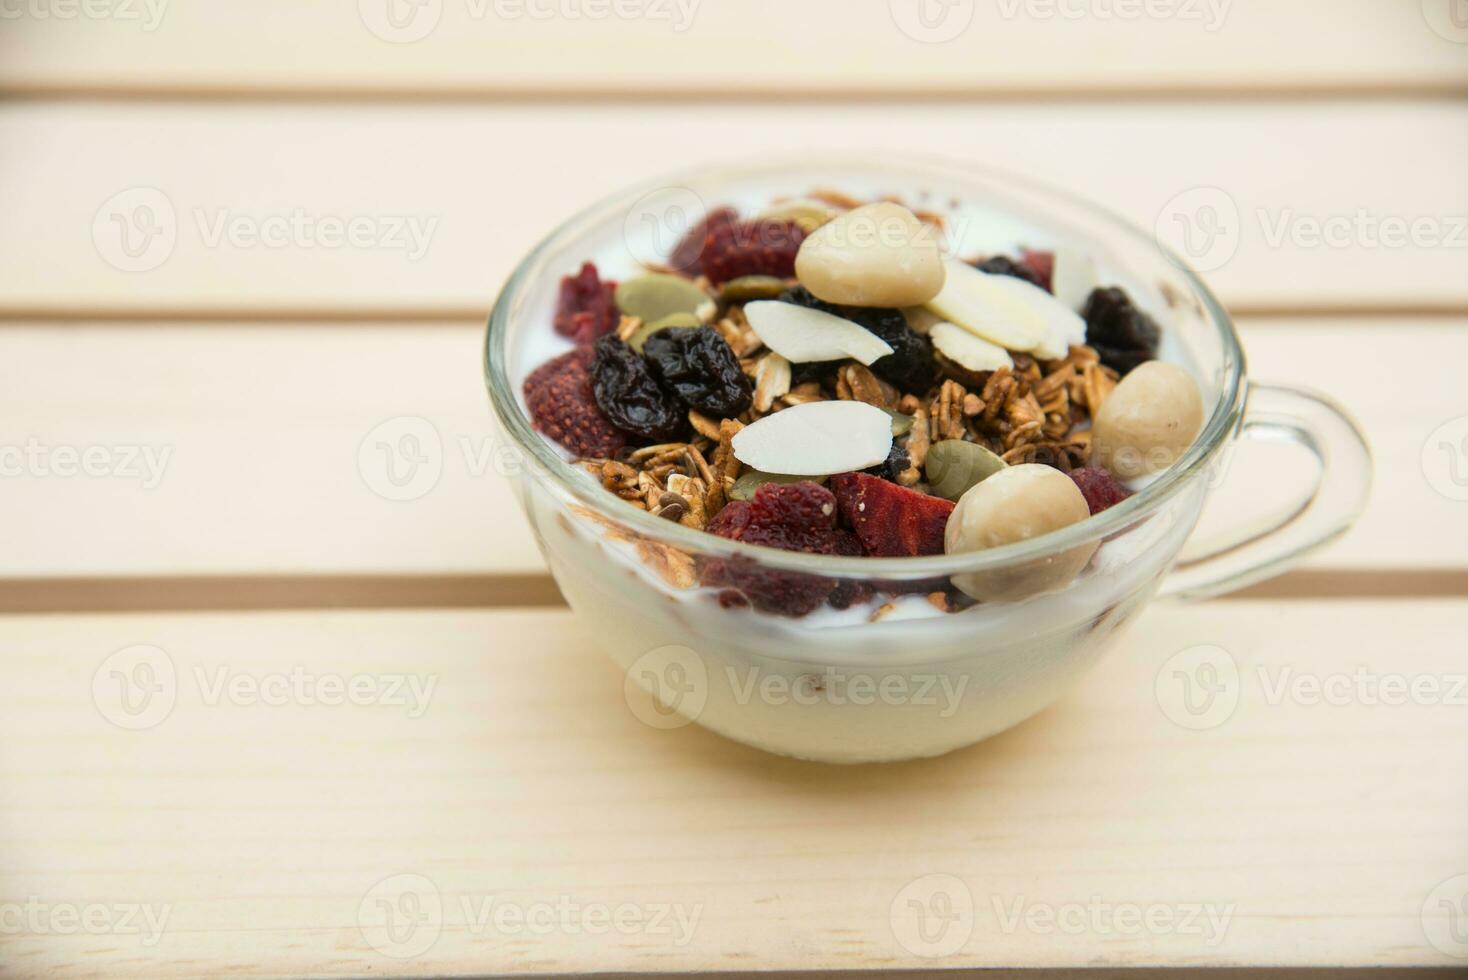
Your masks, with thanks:
<instances>
[{"instance_id":1,"label":"clear curved glass handle on the cup's right side","mask_svg":"<svg viewBox=\"0 0 1468 980\"><path fill-rule=\"evenodd\" d=\"M1251 384L1239 439L1304 446L1320 467L1314 486L1262 525L1232 528L1207 555L1179 562L1158 596L1207 599L1273 578L1340 537L1365 509L1371 449L1346 411L1324 395Z\"/></svg>"}]
</instances>

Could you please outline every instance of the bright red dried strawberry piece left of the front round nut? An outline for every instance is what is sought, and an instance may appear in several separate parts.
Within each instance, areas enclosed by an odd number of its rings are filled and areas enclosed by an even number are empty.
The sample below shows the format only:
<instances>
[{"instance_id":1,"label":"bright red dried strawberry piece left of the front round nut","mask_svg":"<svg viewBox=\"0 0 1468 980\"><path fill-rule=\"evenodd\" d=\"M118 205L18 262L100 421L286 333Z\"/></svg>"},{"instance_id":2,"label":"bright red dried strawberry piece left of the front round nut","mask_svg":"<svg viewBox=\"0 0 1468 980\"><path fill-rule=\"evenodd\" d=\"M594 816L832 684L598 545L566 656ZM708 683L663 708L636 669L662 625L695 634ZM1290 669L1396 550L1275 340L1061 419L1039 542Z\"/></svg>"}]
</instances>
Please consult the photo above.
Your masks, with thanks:
<instances>
[{"instance_id":1,"label":"bright red dried strawberry piece left of the front round nut","mask_svg":"<svg viewBox=\"0 0 1468 980\"><path fill-rule=\"evenodd\" d=\"M913 557L942 555L942 534L953 503L898 487L865 472L831 477L841 516L856 531L868 555Z\"/></svg>"}]
</instances>

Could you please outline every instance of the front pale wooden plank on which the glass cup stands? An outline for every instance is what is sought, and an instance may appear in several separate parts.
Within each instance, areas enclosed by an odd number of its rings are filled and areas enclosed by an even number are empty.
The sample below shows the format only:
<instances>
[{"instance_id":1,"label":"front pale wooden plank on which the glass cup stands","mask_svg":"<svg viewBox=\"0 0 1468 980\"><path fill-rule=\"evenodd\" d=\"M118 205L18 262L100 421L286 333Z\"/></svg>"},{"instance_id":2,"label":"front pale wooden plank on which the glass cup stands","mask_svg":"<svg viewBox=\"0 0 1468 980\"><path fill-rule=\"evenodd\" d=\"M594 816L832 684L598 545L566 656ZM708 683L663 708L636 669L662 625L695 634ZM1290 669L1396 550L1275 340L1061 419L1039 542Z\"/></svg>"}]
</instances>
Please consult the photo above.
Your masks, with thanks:
<instances>
[{"instance_id":1,"label":"front pale wooden plank on which the glass cup stands","mask_svg":"<svg viewBox=\"0 0 1468 980\"><path fill-rule=\"evenodd\" d=\"M6 618L0 961L160 980L1447 967L1464 948L1428 937L1449 924L1431 899L1461 901L1468 871L1468 780L1445 750L1468 736L1449 703L1465 613L1160 606L1050 712L882 767L647 728L564 612ZM122 712L109 669L131 644L167 654L167 694ZM1195 644L1240 672L1204 731L1154 694ZM1373 703L1387 676L1422 687ZM314 700L326 678L357 678L358 703ZM418 687L392 698L392 678ZM957 904L922 940L901 899L934 874ZM511 917L476 918L486 902ZM624 929L581 927L622 905ZM1091 911L1133 905L1155 911ZM653 927L665 908L683 920ZM373 927L389 913L398 932ZM62 935L62 914L94 935Z\"/></svg>"}]
</instances>

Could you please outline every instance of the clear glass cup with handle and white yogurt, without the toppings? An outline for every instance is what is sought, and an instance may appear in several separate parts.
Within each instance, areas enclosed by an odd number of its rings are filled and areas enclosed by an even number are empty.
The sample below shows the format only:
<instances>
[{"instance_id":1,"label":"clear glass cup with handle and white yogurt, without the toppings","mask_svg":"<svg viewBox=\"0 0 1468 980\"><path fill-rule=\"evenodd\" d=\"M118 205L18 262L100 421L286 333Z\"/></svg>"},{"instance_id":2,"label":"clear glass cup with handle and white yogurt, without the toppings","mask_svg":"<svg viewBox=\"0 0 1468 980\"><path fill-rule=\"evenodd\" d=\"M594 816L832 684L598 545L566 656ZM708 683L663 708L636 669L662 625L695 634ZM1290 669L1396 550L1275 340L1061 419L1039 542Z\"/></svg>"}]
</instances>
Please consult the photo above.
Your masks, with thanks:
<instances>
[{"instance_id":1,"label":"clear glass cup with handle and white yogurt, without the toppings","mask_svg":"<svg viewBox=\"0 0 1468 980\"><path fill-rule=\"evenodd\" d=\"M937 211L956 254L1023 244L1089 257L1098 282L1123 286L1163 324L1164 356L1198 380L1207 421L1192 447L1127 500L1044 537L873 559L749 546L649 515L533 431L521 383L552 352L561 276L586 260L609 277L631 274L666 261L712 207L750 214L813 188ZM505 443L524 464L514 480L526 515L587 635L624 669L631 709L658 728L697 722L809 760L935 756L1001 732L1058 698L1152 597L1216 596L1274 575L1342 534L1370 489L1370 450L1349 417L1318 395L1249 383L1229 315L1151 235L1064 192L967 164L719 167L618 194L562 224L514 271L490 314L484 364ZM1230 447L1252 439L1298 443L1320 478L1271 511L1270 527L1240 527L1179 562ZM1050 594L951 613L923 599L954 575L1006 577L1092 547L1080 575ZM903 599L885 615L819 603L872 585ZM747 601L800 597L821 607L788 616Z\"/></svg>"}]
</instances>

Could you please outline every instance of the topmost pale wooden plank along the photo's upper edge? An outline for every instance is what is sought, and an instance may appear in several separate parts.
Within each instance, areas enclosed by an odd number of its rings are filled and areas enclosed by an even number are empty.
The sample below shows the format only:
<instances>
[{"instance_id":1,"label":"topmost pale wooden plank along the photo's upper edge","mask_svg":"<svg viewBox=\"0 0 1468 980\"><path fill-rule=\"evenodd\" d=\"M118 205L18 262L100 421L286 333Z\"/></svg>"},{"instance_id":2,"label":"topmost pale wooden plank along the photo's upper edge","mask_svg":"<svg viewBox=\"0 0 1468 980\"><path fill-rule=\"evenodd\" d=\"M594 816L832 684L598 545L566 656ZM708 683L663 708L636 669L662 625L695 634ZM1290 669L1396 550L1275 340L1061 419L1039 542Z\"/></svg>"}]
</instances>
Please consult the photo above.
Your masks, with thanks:
<instances>
[{"instance_id":1,"label":"topmost pale wooden plank along the photo's upper edge","mask_svg":"<svg viewBox=\"0 0 1468 980\"><path fill-rule=\"evenodd\" d=\"M138 0L15 4L28 92L1422 91L1468 82L1447 3ZM389 10L396 15L389 21ZM926 15L926 22L920 19Z\"/></svg>"}]
</instances>

